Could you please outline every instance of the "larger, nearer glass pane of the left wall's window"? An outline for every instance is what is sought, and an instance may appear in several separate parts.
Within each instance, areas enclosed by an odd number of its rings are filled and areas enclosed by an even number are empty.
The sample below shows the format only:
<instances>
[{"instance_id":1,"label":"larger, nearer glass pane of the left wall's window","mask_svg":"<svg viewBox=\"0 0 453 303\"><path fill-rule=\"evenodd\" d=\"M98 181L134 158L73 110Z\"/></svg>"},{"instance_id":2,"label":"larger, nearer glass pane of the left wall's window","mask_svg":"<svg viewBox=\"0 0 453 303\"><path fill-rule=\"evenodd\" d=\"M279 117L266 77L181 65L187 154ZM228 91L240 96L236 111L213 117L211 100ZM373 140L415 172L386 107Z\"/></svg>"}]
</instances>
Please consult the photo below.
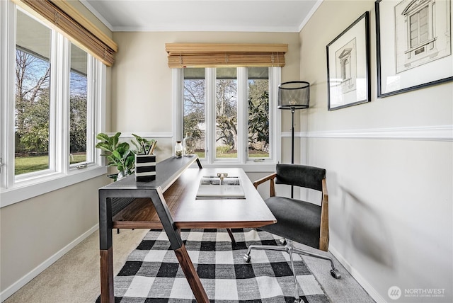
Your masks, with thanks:
<instances>
[{"instance_id":1,"label":"larger, nearer glass pane of the left wall's window","mask_svg":"<svg viewBox=\"0 0 453 303\"><path fill-rule=\"evenodd\" d=\"M15 175L50 168L51 30L16 14Z\"/></svg>"}]
</instances>

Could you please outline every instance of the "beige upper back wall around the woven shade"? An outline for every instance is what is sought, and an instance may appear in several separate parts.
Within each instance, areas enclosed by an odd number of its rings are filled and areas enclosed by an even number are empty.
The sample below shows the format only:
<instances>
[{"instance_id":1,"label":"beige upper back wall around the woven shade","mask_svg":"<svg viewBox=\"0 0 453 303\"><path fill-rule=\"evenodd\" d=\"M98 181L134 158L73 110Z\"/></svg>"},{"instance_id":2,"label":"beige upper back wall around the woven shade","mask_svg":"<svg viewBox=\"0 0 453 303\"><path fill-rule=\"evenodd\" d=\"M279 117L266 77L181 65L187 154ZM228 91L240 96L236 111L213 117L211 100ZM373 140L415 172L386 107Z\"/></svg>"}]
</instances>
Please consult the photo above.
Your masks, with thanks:
<instances>
[{"instance_id":1,"label":"beige upper back wall around the woven shade","mask_svg":"<svg viewBox=\"0 0 453 303\"><path fill-rule=\"evenodd\" d=\"M167 65L166 43L287 43L282 81L299 79L297 33L125 32L113 33L113 40L117 42L119 52L112 73L112 132L171 133L172 83L171 69ZM282 120L290 120L287 112L285 111ZM170 156L172 139L158 141L158 151L161 154L164 151Z\"/></svg>"}]
</instances>

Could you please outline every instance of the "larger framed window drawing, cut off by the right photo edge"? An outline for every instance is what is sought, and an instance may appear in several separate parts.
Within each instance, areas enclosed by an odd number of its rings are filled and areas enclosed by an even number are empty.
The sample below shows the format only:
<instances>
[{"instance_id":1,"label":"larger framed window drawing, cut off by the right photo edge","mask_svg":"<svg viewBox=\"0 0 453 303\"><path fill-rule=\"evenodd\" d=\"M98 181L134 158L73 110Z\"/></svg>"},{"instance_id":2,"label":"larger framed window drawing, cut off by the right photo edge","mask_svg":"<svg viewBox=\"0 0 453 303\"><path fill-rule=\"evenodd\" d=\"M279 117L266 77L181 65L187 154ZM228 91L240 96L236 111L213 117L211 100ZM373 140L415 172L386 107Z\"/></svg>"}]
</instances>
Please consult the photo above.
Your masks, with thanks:
<instances>
[{"instance_id":1,"label":"larger framed window drawing, cut off by the right photo edge","mask_svg":"<svg viewBox=\"0 0 453 303\"><path fill-rule=\"evenodd\" d=\"M452 1L377 0L377 96L453 80Z\"/></svg>"}]
</instances>

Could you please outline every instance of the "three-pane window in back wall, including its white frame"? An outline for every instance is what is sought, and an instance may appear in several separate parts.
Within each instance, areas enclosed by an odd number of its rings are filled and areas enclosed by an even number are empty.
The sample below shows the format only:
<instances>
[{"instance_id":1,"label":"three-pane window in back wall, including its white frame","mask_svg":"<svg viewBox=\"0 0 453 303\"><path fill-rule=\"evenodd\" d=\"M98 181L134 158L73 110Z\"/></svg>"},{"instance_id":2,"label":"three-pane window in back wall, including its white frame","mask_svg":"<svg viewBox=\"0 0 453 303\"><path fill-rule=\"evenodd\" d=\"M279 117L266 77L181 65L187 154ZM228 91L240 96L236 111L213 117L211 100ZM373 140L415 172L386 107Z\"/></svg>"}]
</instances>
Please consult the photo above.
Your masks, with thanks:
<instances>
[{"instance_id":1,"label":"three-pane window in back wall, including its white frame","mask_svg":"<svg viewBox=\"0 0 453 303\"><path fill-rule=\"evenodd\" d=\"M173 75L180 96L175 120L183 121L175 141L193 137L205 166L275 164L280 67L185 68Z\"/></svg>"}]
</instances>

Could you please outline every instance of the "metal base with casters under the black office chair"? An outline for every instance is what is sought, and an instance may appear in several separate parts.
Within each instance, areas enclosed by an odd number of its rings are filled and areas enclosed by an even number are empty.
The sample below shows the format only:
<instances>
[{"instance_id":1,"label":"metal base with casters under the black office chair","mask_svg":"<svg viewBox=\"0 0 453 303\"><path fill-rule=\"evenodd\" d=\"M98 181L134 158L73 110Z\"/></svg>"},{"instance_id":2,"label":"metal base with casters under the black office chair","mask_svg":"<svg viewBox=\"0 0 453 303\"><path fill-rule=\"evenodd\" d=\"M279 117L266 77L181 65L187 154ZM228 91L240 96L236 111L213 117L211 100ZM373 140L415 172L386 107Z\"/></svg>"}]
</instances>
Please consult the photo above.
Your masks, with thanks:
<instances>
[{"instance_id":1,"label":"metal base with casters under the black office chair","mask_svg":"<svg viewBox=\"0 0 453 303\"><path fill-rule=\"evenodd\" d=\"M246 263L250 263L251 256L250 253L252 249L259 250L270 250L270 251L286 251L289 254L289 259L291 261L292 275L294 277L294 303L300 302L299 289L297 288L296 272L294 271L294 261L292 259L292 253L298 253L299 255L310 256L314 258L321 258L324 260L331 261L331 276L336 279L341 278L340 272L336 269L335 264L333 264L332 258L319 255L318 253L311 253L310 251L304 251L303 249L294 248L292 245L292 240L283 239L280 240L280 243L285 244L285 246L273 246L273 245L251 245L248 246L247 253L243 256Z\"/></svg>"}]
</instances>

